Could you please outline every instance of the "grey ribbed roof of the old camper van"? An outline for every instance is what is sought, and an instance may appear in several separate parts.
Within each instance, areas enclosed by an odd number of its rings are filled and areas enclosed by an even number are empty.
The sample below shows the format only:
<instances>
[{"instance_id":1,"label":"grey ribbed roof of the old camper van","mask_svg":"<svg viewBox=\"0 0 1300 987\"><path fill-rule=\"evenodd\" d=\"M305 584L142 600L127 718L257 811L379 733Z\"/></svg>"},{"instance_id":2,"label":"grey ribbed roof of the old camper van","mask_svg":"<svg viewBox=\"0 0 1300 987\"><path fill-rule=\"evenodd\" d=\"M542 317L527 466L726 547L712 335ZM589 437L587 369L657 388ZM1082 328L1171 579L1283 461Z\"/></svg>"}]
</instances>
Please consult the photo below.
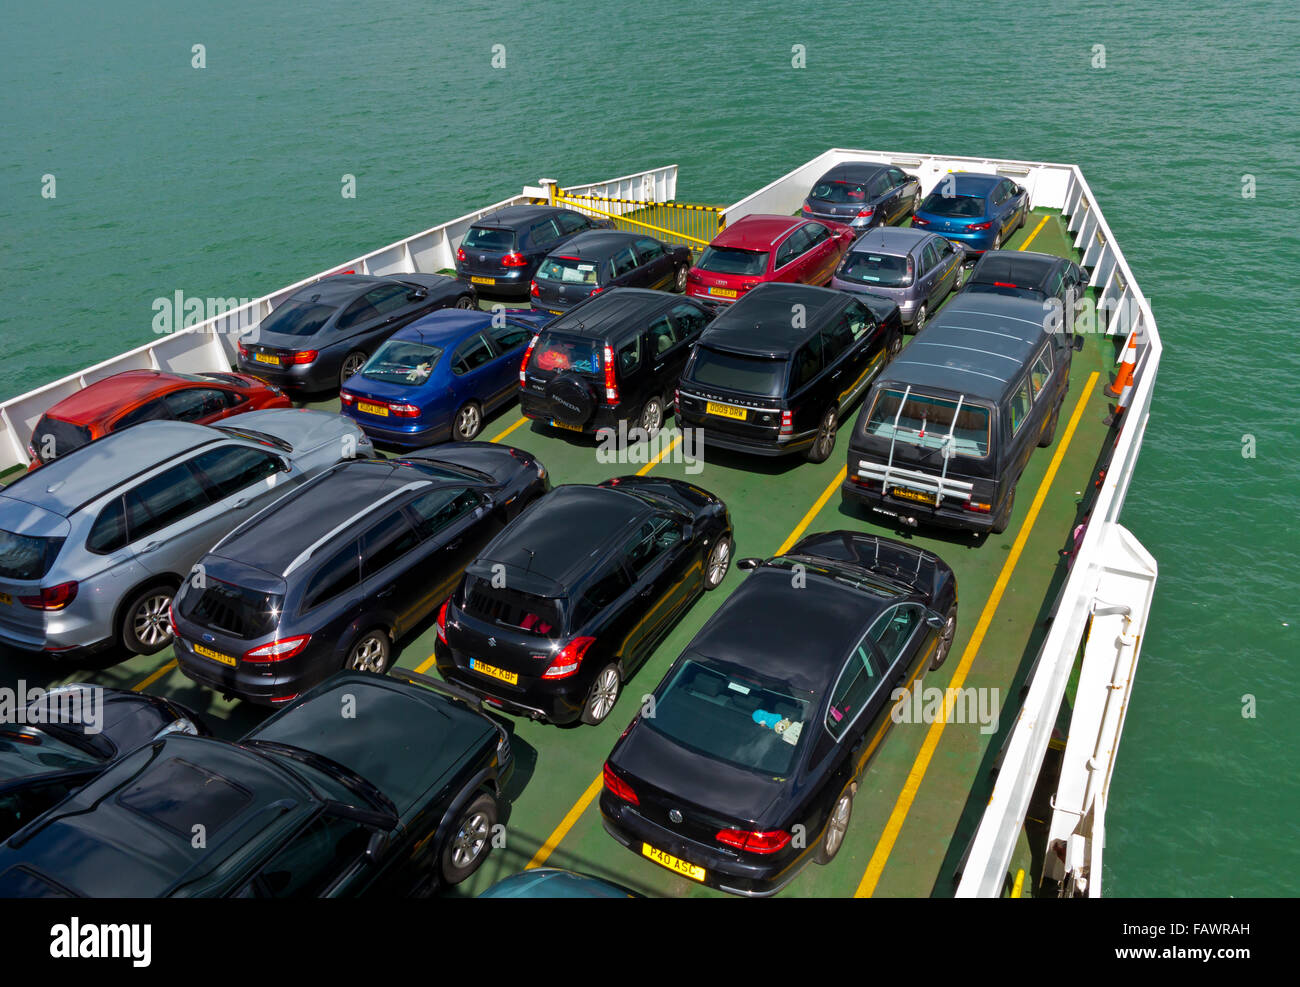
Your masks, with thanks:
<instances>
[{"instance_id":1,"label":"grey ribbed roof of the old camper van","mask_svg":"<svg viewBox=\"0 0 1300 987\"><path fill-rule=\"evenodd\" d=\"M953 296L881 372L876 388L939 388L997 401L1043 343L1043 303L1030 298Z\"/></svg>"}]
</instances>

